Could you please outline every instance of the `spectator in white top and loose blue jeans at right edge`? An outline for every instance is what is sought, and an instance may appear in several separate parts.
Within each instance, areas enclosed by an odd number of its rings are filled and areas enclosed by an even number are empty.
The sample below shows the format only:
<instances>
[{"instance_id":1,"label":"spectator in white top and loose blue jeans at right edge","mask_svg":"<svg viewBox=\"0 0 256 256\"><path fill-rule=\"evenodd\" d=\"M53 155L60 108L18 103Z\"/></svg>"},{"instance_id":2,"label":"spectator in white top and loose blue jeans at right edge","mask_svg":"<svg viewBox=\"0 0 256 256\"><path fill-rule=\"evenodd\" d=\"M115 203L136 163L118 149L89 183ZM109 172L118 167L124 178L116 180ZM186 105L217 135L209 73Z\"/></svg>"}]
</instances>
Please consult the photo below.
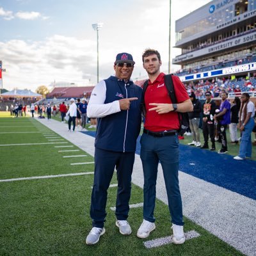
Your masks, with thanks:
<instances>
[{"instance_id":1,"label":"spectator in white top and loose blue jeans at right edge","mask_svg":"<svg viewBox=\"0 0 256 256\"><path fill-rule=\"evenodd\" d=\"M252 157L252 138L255 108L253 102L250 100L249 93L242 93L242 106L239 112L239 127L242 133L241 143L239 147L239 154L235 156L236 160L243 160Z\"/></svg>"}]
</instances>

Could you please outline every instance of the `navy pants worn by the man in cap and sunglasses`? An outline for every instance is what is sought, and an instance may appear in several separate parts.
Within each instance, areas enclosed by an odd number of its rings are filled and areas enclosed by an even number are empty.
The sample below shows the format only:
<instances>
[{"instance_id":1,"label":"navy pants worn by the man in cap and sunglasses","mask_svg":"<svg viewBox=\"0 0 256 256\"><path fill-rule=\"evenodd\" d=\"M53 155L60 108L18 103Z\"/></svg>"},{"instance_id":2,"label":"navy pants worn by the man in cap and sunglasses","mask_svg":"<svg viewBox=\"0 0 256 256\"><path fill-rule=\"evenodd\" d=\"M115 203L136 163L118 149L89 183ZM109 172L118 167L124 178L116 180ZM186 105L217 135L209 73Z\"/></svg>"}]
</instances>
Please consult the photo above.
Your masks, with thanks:
<instances>
[{"instance_id":1,"label":"navy pants worn by the man in cap and sunglasses","mask_svg":"<svg viewBox=\"0 0 256 256\"><path fill-rule=\"evenodd\" d=\"M108 188L116 168L118 189L116 219L126 220L131 197L131 175L134 152L113 152L95 148L95 170L90 216L93 227L104 227Z\"/></svg>"}]
</instances>

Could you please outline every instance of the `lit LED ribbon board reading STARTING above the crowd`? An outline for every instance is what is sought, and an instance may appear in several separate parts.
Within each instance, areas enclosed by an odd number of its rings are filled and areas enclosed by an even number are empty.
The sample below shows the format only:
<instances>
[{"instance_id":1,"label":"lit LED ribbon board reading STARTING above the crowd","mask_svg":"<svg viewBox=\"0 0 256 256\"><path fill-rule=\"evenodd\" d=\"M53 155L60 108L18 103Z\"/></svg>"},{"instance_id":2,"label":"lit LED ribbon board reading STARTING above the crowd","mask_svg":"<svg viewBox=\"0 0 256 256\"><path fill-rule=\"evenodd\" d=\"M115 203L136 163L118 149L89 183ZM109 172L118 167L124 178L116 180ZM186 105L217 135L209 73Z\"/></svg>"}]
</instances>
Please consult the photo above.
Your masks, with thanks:
<instances>
[{"instance_id":1,"label":"lit LED ribbon board reading STARTING above the crowd","mask_svg":"<svg viewBox=\"0 0 256 256\"><path fill-rule=\"evenodd\" d=\"M202 72L202 73L196 73L188 76L179 76L179 78L180 78L180 81L187 82L187 81L193 81L193 80L207 79L209 77L228 76L231 74L251 72L254 70L256 70L256 62L228 67L228 68L216 69L216 70Z\"/></svg>"}]
</instances>

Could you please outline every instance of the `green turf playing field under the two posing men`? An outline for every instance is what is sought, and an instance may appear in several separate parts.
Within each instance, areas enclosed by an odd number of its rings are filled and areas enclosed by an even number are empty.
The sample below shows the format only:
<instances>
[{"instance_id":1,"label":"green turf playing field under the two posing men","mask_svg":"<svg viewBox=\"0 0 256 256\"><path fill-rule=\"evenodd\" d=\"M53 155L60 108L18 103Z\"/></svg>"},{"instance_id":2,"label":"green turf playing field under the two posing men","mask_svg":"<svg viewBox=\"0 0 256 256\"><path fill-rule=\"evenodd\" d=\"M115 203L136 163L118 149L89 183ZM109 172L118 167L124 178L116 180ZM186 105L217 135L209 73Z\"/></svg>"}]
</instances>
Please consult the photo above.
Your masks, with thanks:
<instances>
[{"instance_id":1,"label":"green turf playing field under the two posing men","mask_svg":"<svg viewBox=\"0 0 256 256\"><path fill-rule=\"evenodd\" d=\"M8 127L4 127L8 126ZM22 127L24 126L24 127ZM25 127L28 126L28 127ZM0 112L0 180L67 173L93 172L93 164L72 166L79 161L93 162L93 157L65 138L29 117L12 118ZM12 132L12 133L7 133ZM36 132L36 133L14 133ZM43 132L60 137L62 144L49 143ZM17 145L33 143L33 145ZM37 145L35 145L37 143ZM13 145L16 144L16 145ZM55 146L70 145L70 148ZM78 152L58 152L59 150ZM63 158L84 154L82 159ZM142 175L142 173L141 173ZM116 183L114 174L112 184ZM109 188L106 234L95 246L85 244L92 228L90 196L93 174L49 179L0 182L0 255L243 255L204 228L185 220L184 231L195 230L199 237L182 245L166 244L147 249L143 241L170 236L170 214L163 202L156 202L156 230L147 239L136 237L142 221L142 208L129 212L131 236L122 236L115 226L116 188ZM143 190L132 185L130 204L143 202ZM211 220L209 220L211 221Z\"/></svg>"}]
</instances>

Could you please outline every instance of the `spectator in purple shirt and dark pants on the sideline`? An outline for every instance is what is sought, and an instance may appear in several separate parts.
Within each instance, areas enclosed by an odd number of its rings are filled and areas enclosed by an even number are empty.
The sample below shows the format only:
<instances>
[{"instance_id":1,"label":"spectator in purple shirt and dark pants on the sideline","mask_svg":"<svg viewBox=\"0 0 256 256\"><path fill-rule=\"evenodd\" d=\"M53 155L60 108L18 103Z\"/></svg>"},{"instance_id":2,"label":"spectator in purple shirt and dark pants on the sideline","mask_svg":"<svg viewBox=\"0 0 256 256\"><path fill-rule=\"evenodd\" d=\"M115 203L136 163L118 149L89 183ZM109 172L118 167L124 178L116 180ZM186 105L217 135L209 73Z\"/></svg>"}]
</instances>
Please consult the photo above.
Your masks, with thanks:
<instances>
[{"instance_id":1,"label":"spectator in purple shirt and dark pants on the sideline","mask_svg":"<svg viewBox=\"0 0 256 256\"><path fill-rule=\"evenodd\" d=\"M221 149L218 151L219 154L225 154L228 152L226 130L227 125L230 124L230 102L227 100L227 97L227 92L221 92L220 112L213 116L214 120L221 118L221 120L218 122L218 132L221 140Z\"/></svg>"}]
</instances>

